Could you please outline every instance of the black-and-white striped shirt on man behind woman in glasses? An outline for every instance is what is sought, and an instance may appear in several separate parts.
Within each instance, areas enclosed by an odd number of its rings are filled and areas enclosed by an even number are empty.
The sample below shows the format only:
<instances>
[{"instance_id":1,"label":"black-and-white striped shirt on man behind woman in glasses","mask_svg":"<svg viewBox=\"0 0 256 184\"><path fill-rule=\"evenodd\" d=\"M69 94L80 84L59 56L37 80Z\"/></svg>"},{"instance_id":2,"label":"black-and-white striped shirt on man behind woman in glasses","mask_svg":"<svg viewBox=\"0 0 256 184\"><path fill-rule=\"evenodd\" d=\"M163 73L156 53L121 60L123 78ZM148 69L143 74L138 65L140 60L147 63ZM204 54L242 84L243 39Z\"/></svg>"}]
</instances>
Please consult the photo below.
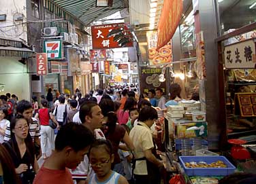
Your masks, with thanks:
<instances>
[{"instance_id":1,"label":"black-and-white striped shirt on man behind woman in glasses","mask_svg":"<svg viewBox=\"0 0 256 184\"><path fill-rule=\"evenodd\" d=\"M32 117L33 122L29 124L29 133L31 135L31 138L35 139L35 137L40 136L40 126L38 124L37 119ZM9 141L11 139L11 130L10 130L10 123L7 124L7 127L5 129L5 138L4 141Z\"/></svg>"}]
</instances>

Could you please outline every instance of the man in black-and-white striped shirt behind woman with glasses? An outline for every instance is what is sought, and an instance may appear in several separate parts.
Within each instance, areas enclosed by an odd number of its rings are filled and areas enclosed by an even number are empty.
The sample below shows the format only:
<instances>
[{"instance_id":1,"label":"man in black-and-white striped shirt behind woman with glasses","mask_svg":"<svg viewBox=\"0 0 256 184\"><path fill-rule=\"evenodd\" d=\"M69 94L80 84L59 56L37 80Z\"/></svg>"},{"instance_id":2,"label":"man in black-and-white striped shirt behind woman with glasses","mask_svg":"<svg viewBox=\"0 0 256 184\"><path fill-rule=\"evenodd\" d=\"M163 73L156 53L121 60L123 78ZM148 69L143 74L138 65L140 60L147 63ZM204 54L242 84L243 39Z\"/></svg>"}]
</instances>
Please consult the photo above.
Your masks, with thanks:
<instances>
[{"instance_id":1,"label":"man in black-and-white striped shirt behind woman with glasses","mask_svg":"<svg viewBox=\"0 0 256 184\"><path fill-rule=\"evenodd\" d=\"M18 114L23 115L25 119L27 119L27 122L29 123L29 133L31 135L31 138L33 139L34 143L37 143L37 145L40 146L40 126L38 124L37 119L35 119L33 116L33 108L29 101L27 100L21 100L18 102L16 111ZM5 137L4 141L9 141L11 139L11 131L10 131L10 124L7 125L5 130Z\"/></svg>"}]
</instances>

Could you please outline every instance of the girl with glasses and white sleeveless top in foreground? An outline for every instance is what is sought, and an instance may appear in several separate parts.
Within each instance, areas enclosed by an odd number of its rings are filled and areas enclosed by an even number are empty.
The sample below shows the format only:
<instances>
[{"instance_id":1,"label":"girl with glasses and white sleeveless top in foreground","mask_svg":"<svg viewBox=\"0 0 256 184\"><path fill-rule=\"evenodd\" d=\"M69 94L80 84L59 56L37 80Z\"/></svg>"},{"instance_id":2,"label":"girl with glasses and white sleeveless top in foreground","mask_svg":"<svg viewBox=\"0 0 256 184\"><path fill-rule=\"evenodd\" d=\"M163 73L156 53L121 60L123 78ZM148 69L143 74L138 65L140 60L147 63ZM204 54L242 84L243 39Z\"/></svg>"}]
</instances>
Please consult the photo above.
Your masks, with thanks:
<instances>
[{"instance_id":1,"label":"girl with glasses and white sleeveless top in foreground","mask_svg":"<svg viewBox=\"0 0 256 184\"><path fill-rule=\"evenodd\" d=\"M114 153L110 141L102 139L95 141L89 150L89 160L95 173L86 183L129 184L125 177L111 170Z\"/></svg>"}]
</instances>

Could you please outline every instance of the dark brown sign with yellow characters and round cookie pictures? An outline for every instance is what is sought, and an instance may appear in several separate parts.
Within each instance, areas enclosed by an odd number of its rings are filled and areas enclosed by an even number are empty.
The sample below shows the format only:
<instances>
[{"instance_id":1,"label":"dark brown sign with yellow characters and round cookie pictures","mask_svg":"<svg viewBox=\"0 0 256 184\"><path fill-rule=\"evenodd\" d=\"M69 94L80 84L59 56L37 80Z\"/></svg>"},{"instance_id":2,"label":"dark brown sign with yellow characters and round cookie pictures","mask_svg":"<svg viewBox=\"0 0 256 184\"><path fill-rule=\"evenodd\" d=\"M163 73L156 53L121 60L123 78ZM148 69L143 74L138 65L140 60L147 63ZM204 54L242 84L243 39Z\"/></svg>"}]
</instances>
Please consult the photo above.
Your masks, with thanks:
<instances>
[{"instance_id":1,"label":"dark brown sign with yellow characters and round cookie pictures","mask_svg":"<svg viewBox=\"0 0 256 184\"><path fill-rule=\"evenodd\" d=\"M161 88L163 94L166 94L166 80L164 82L159 81L159 75L162 72L160 68L141 67L140 70L141 81L145 81L140 83L142 92Z\"/></svg>"}]
</instances>

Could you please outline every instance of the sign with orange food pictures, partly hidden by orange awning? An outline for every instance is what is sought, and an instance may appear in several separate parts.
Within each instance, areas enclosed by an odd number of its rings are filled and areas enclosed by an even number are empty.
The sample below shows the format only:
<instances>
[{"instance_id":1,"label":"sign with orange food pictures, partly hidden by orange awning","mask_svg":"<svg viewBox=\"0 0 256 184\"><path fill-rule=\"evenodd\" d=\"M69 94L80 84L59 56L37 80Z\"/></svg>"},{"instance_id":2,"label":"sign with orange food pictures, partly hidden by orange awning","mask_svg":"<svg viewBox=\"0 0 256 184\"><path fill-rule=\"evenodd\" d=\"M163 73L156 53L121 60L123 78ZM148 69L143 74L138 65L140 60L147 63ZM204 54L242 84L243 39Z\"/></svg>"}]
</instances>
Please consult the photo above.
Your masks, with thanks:
<instances>
[{"instance_id":1,"label":"sign with orange food pictures, partly hidden by orange awning","mask_svg":"<svg viewBox=\"0 0 256 184\"><path fill-rule=\"evenodd\" d=\"M157 31L148 31L146 33L148 40L148 60L149 65L165 64L172 62L172 42L157 51Z\"/></svg>"}]
</instances>

